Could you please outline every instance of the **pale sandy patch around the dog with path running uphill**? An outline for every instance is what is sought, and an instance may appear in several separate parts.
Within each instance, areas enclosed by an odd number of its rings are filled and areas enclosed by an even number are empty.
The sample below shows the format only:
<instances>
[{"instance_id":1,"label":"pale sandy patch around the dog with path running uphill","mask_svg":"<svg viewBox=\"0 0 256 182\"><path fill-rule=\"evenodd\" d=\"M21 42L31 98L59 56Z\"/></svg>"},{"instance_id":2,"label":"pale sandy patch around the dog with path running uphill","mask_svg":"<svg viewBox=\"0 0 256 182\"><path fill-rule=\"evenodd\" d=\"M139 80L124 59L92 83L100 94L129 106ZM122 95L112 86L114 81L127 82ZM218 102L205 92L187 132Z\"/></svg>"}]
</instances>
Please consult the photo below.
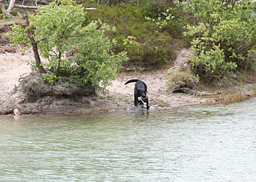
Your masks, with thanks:
<instances>
[{"instance_id":1,"label":"pale sandy patch around the dog with path running uphill","mask_svg":"<svg viewBox=\"0 0 256 182\"><path fill-rule=\"evenodd\" d=\"M170 71L178 71L183 66L187 59L191 56L191 52L184 48L178 50L177 58L174 62L174 66L166 70L150 71L148 73L136 73L125 76L118 76L112 83L111 87L108 87L110 94L123 95L125 98L133 100L133 91L135 84L124 83L129 79L141 79L146 82L148 86L148 98L151 106L155 107L174 107L184 106L188 104L203 103L203 98L196 97L195 95L184 94L170 94L166 92L165 84L167 82L167 76Z\"/></svg>"}]
</instances>

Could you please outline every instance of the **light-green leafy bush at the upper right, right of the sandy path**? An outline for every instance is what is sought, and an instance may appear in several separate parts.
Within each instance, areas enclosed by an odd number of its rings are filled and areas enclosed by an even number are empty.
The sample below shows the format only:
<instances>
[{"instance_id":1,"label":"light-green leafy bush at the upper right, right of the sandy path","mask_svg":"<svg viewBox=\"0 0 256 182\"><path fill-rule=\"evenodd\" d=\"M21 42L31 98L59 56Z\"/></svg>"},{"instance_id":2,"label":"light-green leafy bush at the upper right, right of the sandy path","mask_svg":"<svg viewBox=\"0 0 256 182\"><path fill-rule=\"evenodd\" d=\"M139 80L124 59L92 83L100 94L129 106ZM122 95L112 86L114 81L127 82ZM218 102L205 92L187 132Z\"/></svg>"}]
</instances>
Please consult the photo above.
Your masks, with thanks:
<instances>
[{"instance_id":1,"label":"light-green leafy bush at the upper right, right of the sandy path","mask_svg":"<svg viewBox=\"0 0 256 182\"><path fill-rule=\"evenodd\" d=\"M195 16L185 36L192 37L192 68L207 79L221 79L236 68L248 65L249 50L256 43L251 1L201 1L183 4Z\"/></svg>"}]
</instances>

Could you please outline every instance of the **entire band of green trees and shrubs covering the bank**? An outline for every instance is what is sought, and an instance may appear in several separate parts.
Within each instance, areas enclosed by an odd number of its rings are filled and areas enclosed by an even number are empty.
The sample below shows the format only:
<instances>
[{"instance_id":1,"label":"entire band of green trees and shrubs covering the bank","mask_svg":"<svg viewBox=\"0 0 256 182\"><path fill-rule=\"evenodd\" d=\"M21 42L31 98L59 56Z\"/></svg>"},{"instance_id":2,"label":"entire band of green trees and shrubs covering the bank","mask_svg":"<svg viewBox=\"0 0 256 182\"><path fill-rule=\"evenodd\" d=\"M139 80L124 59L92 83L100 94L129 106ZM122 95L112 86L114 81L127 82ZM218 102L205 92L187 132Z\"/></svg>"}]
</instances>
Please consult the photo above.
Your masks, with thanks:
<instances>
[{"instance_id":1,"label":"entire band of green trees and shrubs covering the bank","mask_svg":"<svg viewBox=\"0 0 256 182\"><path fill-rule=\"evenodd\" d=\"M53 2L39 9L25 29L14 26L10 33L13 42L26 44L33 43L29 31L34 33L34 44L49 59L47 65L37 61L37 68L50 68L45 82L70 76L79 85L105 87L121 64L170 64L177 39L192 46L189 65L197 80L217 83L233 71L256 71L255 4L250 0L78 2L98 10L85 13L73 1Z\"/></svg>"}]
</instances>

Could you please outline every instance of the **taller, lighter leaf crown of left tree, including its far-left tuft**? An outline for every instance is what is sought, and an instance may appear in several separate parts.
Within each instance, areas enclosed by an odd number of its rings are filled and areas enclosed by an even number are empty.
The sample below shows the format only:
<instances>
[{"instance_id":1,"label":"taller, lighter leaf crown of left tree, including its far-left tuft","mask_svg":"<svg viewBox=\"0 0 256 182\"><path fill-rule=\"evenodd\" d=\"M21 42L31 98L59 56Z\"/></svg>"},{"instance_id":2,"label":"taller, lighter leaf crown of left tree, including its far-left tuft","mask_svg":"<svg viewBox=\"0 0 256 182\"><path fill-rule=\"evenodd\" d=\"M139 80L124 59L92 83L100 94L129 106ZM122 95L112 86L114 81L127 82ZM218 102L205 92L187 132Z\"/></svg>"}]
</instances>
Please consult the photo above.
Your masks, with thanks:
<instances>
[{"instance_id":1,"label":"taller, lighter leaf crown of left tree, including its far-left tuft","mask_svg":"<svg viewBox=\"0 0 256 182\"><path fill-rule=\"evenodd\" d=\"M85 21L83 7L75 4L75 1L59 2L61 4L58 6L56 1L53 1L44 8L37 9L38 14L31 17L31 23L26 28L14 25L12 31L7 33L13 43L23 43L30 47L28 31L33 30L34 41L37 42L40 54L48 58L50 68L56 72L56 76L59 76L59 67L64 59L64 52L67 51L67 39L80 31Z\"/></svg>"}]
</instances>

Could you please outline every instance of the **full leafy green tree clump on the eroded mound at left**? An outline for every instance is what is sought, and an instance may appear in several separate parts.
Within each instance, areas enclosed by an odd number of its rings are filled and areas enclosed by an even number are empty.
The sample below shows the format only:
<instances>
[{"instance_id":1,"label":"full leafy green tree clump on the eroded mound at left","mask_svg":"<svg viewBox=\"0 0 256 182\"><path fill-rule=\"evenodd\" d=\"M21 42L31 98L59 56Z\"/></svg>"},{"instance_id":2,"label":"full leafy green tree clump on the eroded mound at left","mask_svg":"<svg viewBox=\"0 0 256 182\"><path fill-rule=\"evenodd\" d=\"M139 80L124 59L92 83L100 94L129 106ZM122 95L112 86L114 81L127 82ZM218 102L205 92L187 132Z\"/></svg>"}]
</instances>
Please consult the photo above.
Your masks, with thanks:
<instances>
[{"instance_id":1,"label":"full leafy green tree clump on the eroded mound at left","mask_svg":"<svg viewBox=\"0 0 256 182\"><path fill-rule=\"evenodd\" d=\"M99 83L102 87L110 84L121 62L128 59L126 52L115 54L111 50L116 43L105 36L111 28L100 21L83 26L86 13L75 1L53 2L37 11L26 28L15 25L8 35L17 44L36 44L40 54L48 58L44 67L50 72L43 75L45 80L69 76L80 86L92 84L100 88ZM37 68L43 73L40 67L42 63L38 61Z\"/></svg>"}]
</instances>

